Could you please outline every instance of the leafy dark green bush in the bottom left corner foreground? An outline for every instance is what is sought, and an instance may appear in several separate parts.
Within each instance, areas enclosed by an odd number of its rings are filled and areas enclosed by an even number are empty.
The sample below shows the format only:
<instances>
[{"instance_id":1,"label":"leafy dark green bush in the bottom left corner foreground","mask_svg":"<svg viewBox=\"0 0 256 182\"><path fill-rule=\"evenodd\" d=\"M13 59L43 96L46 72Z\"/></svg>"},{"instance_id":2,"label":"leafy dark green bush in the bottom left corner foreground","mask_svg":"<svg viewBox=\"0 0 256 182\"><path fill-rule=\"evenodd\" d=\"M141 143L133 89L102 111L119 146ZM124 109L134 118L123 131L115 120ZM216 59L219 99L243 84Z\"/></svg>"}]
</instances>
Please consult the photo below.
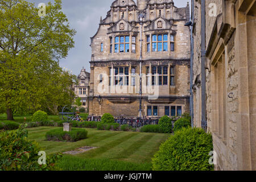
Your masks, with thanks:
<instances>
[{"instance_id":1,"label":"leafy dark green bush in the bottom left corner foreground","mask_svg":"<svg viewBox=\"0 0 256 182\"><path fill-rule=\"evenodd\" d=\"M27 139L26 124L16 131L5 131L0 137L0 171L48 171L57 170L55 162L61 154L47 155L46 164L38 164L39 144Z\"/></svg>"}]
</instances>

